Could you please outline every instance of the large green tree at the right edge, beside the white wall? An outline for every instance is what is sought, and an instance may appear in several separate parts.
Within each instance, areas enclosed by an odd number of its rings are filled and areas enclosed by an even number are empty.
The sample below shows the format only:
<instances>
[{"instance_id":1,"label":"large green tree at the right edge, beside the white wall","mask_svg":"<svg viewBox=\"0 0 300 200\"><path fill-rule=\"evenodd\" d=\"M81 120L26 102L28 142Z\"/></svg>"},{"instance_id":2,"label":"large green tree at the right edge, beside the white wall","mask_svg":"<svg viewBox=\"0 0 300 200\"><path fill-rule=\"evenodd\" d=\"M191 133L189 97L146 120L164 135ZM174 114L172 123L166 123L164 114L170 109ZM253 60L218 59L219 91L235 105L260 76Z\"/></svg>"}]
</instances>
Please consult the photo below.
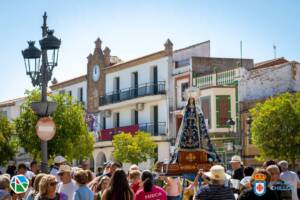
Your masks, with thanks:
<instances>
[{"instance_id":1,"label":"large green tree at the right edge, beside the white wall","mask_svg":"<svg viewBox=\"0 0 300 200\"><path fill-rule=\"evenodd\" d=\"M300 157L300 93L284 93L258 103L250 110L252 140L260 150L260 159Z\"/></svg>"}]
</instances>

